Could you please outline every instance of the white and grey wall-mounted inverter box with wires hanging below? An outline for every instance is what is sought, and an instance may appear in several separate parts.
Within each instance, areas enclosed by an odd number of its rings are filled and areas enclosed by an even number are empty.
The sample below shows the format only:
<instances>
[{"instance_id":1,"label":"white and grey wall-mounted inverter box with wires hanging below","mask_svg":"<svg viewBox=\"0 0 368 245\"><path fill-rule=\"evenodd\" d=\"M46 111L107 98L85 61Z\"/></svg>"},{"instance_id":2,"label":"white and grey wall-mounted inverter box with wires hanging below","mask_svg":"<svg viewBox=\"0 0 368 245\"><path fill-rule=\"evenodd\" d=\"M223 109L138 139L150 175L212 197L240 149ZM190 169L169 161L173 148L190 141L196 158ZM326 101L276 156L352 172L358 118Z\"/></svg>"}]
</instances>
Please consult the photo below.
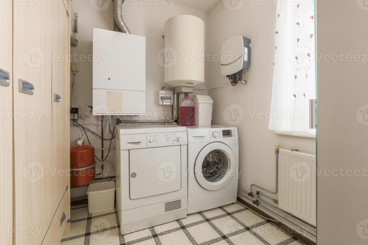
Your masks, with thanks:
<instances>
[{"instance_id":1,"label":"white and grey wall-mounted inverter box with wires hanging below","mask_svg":"<svg viewBox=\"0 0 368 245\"><path fill-rule=\"evenodd\" d=\"M223 58L226 57L226 58ZM251 64L251 40L244 36L235 36L227 40L221 48L221 74L236 75Z\"/></svg>"}]
</instances>

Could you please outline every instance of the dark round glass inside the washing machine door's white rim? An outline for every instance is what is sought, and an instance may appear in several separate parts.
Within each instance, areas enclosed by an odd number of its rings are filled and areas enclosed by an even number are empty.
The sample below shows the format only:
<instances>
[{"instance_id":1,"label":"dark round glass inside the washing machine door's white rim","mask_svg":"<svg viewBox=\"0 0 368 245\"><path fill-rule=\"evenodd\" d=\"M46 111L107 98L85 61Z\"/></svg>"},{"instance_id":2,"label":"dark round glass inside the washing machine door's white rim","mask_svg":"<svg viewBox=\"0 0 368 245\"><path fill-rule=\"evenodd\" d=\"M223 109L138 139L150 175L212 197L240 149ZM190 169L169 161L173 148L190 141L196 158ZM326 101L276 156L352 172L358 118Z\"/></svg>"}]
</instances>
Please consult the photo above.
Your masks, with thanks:
<instances>
[{"instance_id":1,"label":"dark round glass inside the washing machine door's white rim","mask_svg":"<svg viewBox=\"0 0 368 245\"><path fill-rule=\"evenodd\" d=\"M221 180L229 167L229 161L221 150L210 151L203 160L202 174L209 182L217 182Z\"/></svg>"}]
</instances>

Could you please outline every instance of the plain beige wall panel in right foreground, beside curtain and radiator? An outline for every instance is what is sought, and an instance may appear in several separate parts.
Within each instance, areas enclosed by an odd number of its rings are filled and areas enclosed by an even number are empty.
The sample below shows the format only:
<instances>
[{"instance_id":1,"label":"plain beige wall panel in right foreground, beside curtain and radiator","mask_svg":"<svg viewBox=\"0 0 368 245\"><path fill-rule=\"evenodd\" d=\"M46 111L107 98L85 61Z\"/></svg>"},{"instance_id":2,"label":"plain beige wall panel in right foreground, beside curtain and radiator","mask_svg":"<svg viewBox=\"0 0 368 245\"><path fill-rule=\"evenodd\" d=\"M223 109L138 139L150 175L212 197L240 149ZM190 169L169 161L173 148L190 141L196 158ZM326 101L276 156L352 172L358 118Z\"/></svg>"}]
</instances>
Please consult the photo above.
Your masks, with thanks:
<instances>
[{"instance_id":1,"label":"plain beige wall panel in right foreground, beside curtain and radiator","mask_svg":"<svg viewBox=\"0 0 368 245\"><path fill-rule=\"evenodd\" d=\"M364 1L317 1L319 171L351 169L365 176L318 176L318 244L368 243L368 7ZM328 61L329 55L361 61ZM363 112L361 112L363 111ZM323 172L322 172L323 173ZM359 175L359 174L358 174Z\"/></svg>"}]
</instances>

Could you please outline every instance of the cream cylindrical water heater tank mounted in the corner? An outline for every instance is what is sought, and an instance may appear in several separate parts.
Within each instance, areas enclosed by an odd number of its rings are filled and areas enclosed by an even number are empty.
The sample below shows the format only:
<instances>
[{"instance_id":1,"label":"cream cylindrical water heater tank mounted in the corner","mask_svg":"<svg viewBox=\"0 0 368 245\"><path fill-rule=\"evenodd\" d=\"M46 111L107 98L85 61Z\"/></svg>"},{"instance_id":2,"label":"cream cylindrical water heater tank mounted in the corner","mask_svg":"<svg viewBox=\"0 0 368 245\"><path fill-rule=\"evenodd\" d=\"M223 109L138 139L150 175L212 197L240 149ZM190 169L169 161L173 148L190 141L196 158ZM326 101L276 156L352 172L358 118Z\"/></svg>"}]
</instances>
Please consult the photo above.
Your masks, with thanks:
<instances>
[{"instance_id":1,"label":"cream cylindrical water heater tank mounted in the corner","mask_svg":"<svg viewBox=\"0 0 368 245\"><path fill-rule=\"evenodd\" d=\"M165 23L164 82L176 93L193 93L205 82L205 23L192 15L177 15ZM185 91L181 91L185 90Z\"/></svg>"}]
</instances>

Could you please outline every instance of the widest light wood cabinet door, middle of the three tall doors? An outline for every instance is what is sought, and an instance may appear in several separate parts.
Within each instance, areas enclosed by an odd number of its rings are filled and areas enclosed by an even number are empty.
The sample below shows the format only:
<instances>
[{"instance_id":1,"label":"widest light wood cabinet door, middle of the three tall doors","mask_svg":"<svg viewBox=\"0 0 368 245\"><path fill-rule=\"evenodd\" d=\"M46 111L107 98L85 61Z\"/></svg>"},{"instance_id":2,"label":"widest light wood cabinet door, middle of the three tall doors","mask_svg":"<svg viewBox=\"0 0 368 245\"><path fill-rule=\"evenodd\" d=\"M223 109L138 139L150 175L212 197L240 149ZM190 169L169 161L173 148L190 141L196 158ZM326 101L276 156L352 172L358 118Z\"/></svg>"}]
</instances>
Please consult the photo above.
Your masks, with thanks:
<instances>
[{"instance_id":1,"label":"widest light wood cabinet door, middle of the three tall doors","mask_svg":"<svg viewBox=\"0 0 368 245\"><path fill-rule=\"evenodd\" d=\"M26 231L15 233L13 241L22 245L49 244L43 240L55 211L47 200L54 192L48 185L52 171L51 3L25 0L13 6L14 226ZM33 95L19 92L19 79L33 84Z\"/></svg>"}]
</instances>

